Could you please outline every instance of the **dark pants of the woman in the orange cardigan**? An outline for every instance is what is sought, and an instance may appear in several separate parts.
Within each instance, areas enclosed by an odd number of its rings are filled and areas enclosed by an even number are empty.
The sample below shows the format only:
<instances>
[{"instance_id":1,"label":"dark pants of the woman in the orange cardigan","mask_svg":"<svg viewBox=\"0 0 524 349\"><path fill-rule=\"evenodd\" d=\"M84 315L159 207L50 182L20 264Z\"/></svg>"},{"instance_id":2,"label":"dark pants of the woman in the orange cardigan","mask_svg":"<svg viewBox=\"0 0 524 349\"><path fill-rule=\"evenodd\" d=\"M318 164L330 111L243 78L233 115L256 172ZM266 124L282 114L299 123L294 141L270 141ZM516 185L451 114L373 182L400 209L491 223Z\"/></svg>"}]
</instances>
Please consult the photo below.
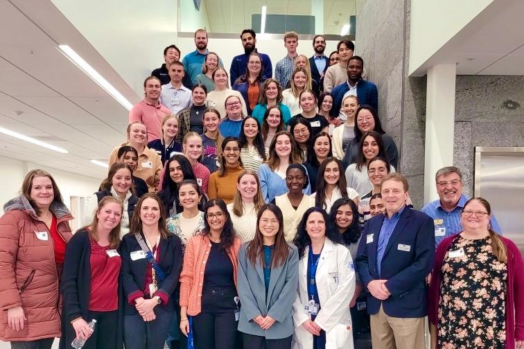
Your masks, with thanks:
<instances>
[{"instance_id":1,"label":"dark pants of the woman in the orange cardigan","mask_svg":"<svg viewBox=\"0 0 524 349\"><path fill-rule=\"evenodd\" d=\"M235 348L236 289L204 289L202 312L193 316L193 335L197 349Z\"/></svg>"}]
</instances>

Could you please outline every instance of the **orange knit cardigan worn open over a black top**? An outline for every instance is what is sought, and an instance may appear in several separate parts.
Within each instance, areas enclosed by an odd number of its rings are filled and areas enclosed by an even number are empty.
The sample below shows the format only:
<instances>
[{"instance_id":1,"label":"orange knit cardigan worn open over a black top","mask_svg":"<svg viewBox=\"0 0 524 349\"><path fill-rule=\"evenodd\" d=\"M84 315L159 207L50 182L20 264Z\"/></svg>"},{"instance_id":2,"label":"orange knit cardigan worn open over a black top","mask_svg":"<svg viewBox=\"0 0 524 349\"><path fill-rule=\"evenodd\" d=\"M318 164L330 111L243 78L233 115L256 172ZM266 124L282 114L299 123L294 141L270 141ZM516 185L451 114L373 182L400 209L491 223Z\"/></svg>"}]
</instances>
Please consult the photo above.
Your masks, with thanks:
<instances>
[{"instance_id":1,"label":"orange knit cardigan worn open over a black top","mask_svg":"<svg viewBox=\"0 0 524 349\"><path fill-rule=\"evenodd\" d=\"M235 238L233 246L227 251L233 263L235 287L240 247L241 240ZM180 306L187 307L187 314L190 316L198 315L202 311L202 285L204 285L204 271L209 251L211 251L211 241L207 235L195 235L186 245L184 267L180 274Z\"/></svg>"}]
</instances>

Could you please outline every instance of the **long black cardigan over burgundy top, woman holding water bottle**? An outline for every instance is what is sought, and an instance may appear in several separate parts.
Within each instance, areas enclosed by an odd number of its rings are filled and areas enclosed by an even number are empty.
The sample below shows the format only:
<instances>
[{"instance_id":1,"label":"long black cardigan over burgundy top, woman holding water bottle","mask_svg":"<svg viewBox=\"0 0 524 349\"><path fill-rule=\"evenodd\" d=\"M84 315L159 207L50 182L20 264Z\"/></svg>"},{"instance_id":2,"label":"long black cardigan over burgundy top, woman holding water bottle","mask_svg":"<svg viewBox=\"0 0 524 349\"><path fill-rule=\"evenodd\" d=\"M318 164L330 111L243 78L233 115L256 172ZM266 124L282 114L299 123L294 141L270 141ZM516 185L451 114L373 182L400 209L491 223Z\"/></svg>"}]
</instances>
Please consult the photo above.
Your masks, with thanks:
<instances>
[{"instance_id":1,"label":"long black cardigan over burgundy top, woman holding water bottle","mask_svg":"<svg viewBox=\"0 0 524 349\"><path fill-rule=\"evenodd\" d=\"M76 338L71 321L82 317L89 322L89 294L91 292L91 242L87 230L77 231L67 243L60 292L64 303L62 310L62 338L60 349L71 348ZM121 283L119 282L119 316L116 331L116 347L123 348L123 317Z\"/></svg>"}]
</instances>

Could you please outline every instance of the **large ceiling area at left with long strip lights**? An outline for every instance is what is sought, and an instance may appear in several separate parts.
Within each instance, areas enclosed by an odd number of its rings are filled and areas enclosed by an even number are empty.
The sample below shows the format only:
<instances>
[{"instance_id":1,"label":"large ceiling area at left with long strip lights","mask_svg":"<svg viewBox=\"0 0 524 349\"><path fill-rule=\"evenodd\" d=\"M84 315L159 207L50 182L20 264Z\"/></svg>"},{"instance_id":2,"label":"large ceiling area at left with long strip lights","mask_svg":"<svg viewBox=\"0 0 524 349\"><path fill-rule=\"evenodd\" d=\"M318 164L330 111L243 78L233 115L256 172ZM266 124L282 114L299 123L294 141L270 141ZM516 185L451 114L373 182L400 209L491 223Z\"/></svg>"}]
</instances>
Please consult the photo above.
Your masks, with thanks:
<instances>
[{"instance_id":1,"label":"large ceiling area at left with long strip lights","mask_svg":"<svg viewBox=\"0 0 524 349\"><path fill-rule=\"evenodd\" d=\"M64 57L58 44L73 43L131 102L138 96L47 0L0 0L0 33L0 127L69 151L0 134L0 156L104 177L107 169L89 161L105 161L125 140L128 111Z\"/></svg>"}]
</instances>

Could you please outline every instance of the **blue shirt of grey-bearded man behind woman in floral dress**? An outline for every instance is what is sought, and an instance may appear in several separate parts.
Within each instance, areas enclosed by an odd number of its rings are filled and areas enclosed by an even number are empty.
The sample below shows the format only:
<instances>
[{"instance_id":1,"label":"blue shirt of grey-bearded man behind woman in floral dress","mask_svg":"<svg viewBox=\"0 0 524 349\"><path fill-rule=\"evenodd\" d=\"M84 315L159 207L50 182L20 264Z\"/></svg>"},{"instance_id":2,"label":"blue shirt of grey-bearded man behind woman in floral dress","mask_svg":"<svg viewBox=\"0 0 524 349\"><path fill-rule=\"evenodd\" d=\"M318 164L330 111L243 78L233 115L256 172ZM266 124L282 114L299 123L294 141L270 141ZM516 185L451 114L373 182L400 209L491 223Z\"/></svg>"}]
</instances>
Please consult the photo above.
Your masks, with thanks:
<instances>
[{"instance_id":1,"label":"blue shirt of grey-bearded man behind woman in floral dress","mask_svg":"<svg viewBox=\"0 0 524 349\"><path fill-rule=\"evenodd\" d=\"M462 224L460 222L460 213L462 212L462 208L464 208L464 205L466 202L468 202L468 200L469 197L466 197L466 195L460 195L457 206L455 206L453 211L450 212L442 208L440 205L440 200L430 202L421 209L423 213L426 213L426 215L433 218L433 223L435 224L435 247L437 247L439 243L448 236L455 235L464 230L462 229ZM500 226L498 225L498 222L493 213L491 213L491 219L489 220L489 223L491 224L491 229L494 232L502 234Z\"/></svg>"}]
</instances>

